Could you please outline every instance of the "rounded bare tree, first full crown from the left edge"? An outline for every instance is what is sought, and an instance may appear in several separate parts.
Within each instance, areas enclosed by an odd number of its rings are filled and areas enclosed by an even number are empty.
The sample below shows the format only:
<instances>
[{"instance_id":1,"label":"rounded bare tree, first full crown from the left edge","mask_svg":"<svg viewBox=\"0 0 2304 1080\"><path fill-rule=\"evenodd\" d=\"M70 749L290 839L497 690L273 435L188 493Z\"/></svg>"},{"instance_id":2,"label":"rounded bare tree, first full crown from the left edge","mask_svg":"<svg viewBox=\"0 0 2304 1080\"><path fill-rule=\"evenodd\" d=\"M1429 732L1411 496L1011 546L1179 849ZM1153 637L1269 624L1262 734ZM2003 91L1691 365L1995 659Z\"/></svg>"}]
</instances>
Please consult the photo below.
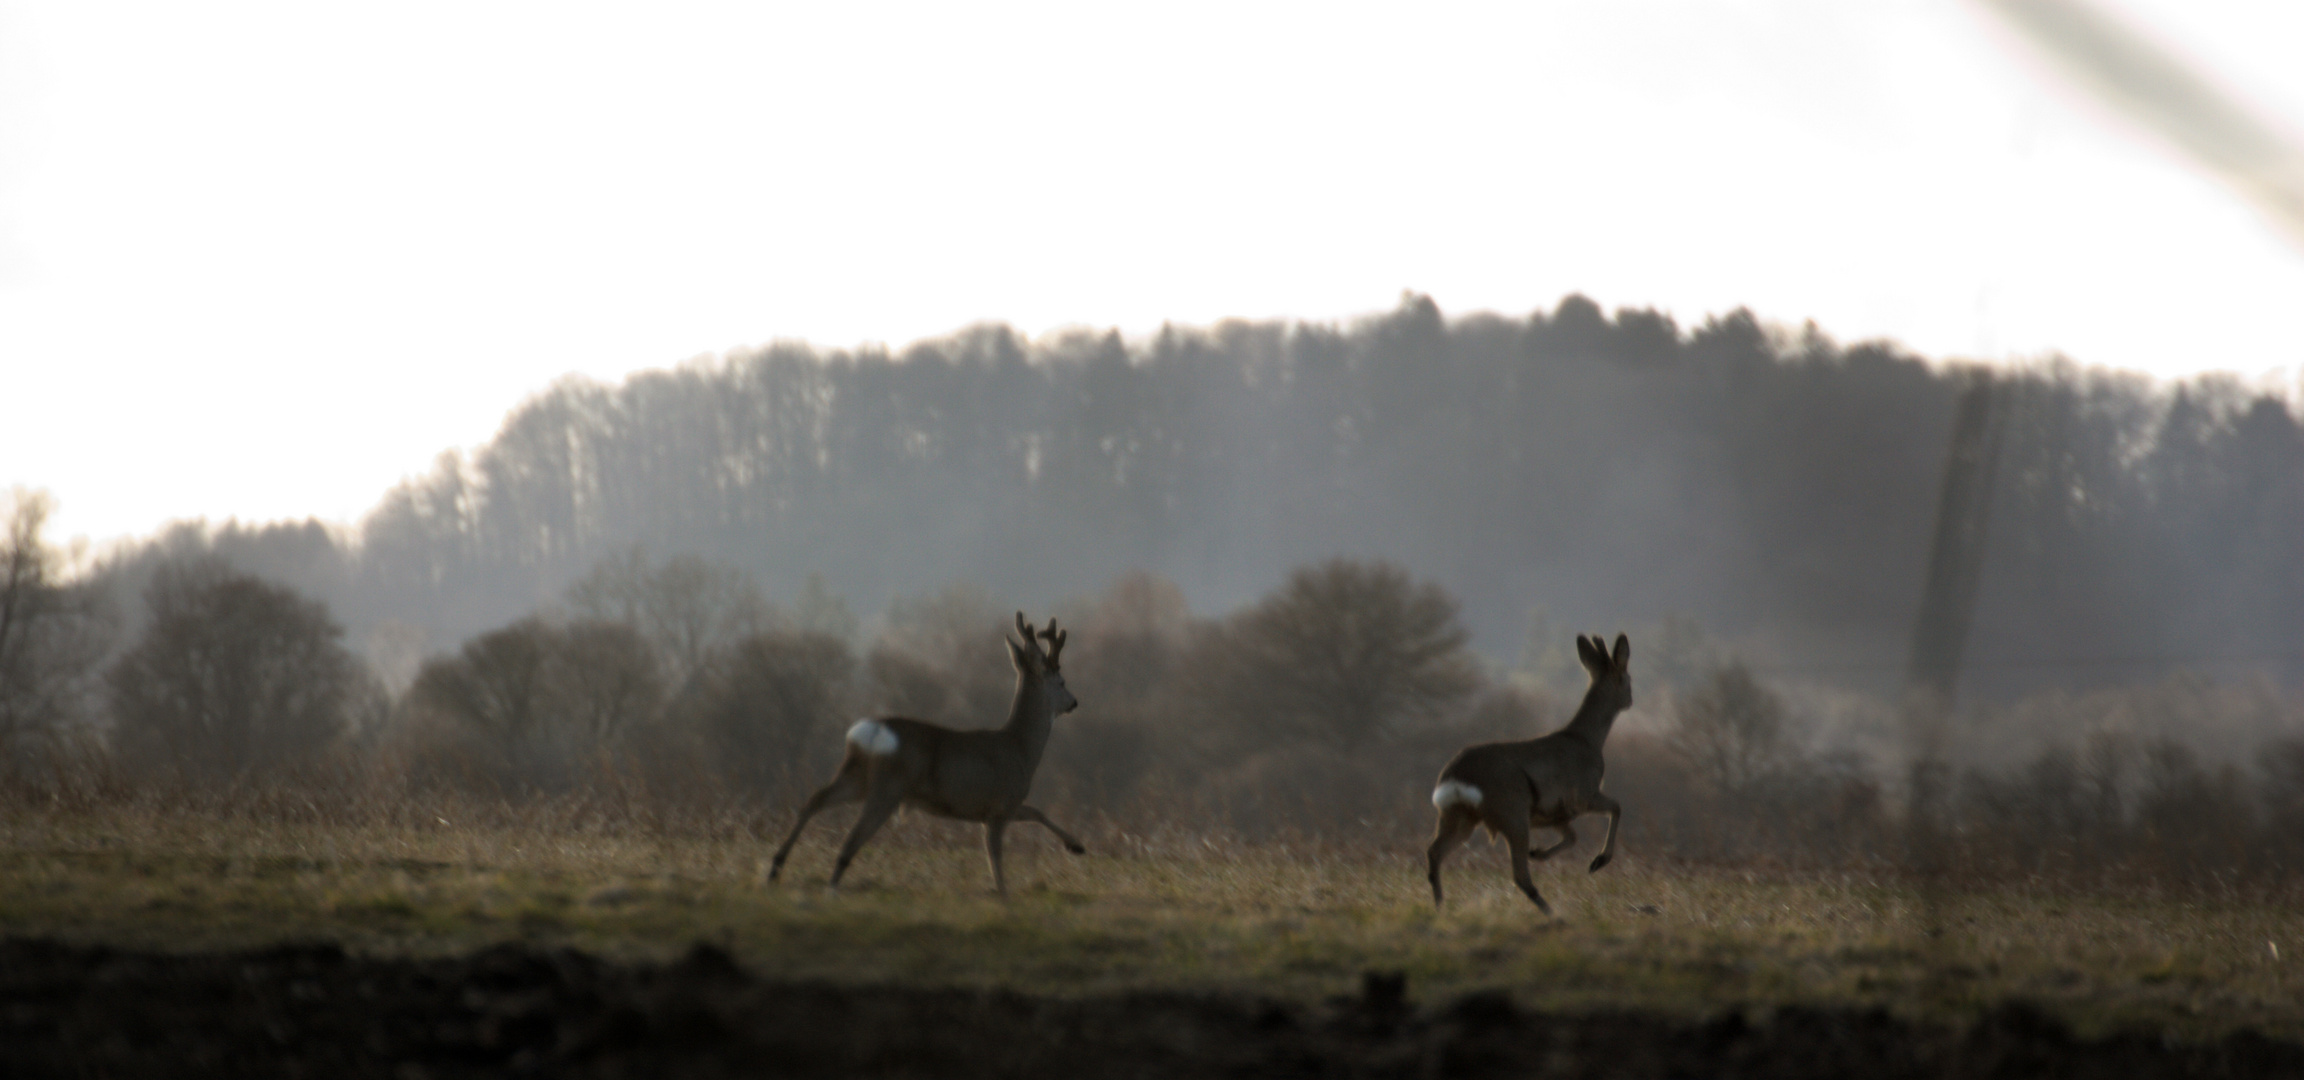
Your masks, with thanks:
<instances>
[{"instance_id":1,"label":"rounded bare tree, first full crown from the left edge","mask_svg":"<svg viewBox=\"0 0 2304 1080\"><path fill-rule=\"evenodd\" d=\"M177 562L152 578L145 606L143 636L106 672L131 758L205 781L309 762L373 695L327 606L283 585L219 560Z\"/></svg>"}]
</instances>

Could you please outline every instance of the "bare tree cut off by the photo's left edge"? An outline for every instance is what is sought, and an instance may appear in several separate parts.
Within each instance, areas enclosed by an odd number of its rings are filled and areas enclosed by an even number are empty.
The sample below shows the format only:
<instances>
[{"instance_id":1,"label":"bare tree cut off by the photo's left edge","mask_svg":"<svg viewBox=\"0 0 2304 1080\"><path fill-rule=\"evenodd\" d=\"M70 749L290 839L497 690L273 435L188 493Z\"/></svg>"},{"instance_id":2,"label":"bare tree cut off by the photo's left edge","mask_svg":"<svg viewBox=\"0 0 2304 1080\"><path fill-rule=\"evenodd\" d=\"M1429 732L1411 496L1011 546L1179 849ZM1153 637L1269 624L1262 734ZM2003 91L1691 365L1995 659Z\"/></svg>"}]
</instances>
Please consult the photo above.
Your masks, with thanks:
<instances>
[{"instance_id":1,"label":"bare tree cut off by the photo's left edge","mask_svg":"<svg viewBox=\"0 0 2304 1080\"><path fill-rule=\"evenodd\" d=\"M39 537L51 509L46 493L12 490L0 534L0 758L7 760L88 712L115 633L99 590L58 580L58 555Z\"/></svg>"}]
</instances>

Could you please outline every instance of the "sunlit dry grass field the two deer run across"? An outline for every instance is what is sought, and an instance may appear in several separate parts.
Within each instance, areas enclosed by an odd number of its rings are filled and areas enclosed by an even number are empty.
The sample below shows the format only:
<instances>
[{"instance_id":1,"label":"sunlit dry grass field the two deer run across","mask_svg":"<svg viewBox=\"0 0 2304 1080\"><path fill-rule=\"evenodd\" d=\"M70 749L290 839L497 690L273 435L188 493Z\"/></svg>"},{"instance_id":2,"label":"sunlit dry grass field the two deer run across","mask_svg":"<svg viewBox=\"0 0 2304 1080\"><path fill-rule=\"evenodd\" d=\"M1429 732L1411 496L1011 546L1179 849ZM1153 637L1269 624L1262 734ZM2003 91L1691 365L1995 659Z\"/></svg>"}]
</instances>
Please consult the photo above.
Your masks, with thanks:
<instances>
[{"instance_id":1,"label":"sunlit dry grass field the two deer run across","mask_svg":"<svg viewBox=\"0 0 2304 1080\"><path fill-rule=\"evenodd\" d=\"M781 822L770 822L776 829ZM1539 864L1560 919L1500 847L1449 864L1433 912L1412 841L1240 843L1085 829L1069 857L1009 838L1011 903L977 829L899 820L827 893L846 817L779 884L744 829L666 836L495 813L486 824L323 827L247 815L23 811L0 820L0 930L170 951L334 940L452 953L518 940L666 958L696 940L767 979L1127 988L1320 999L1401 969L1412 999L1502 988L1523 1006L1707 1016L1779 1004L1963 1020L2030 999L2078 1032L2304 1036L2304 912L2269 900L1919 889L1894 875ZM712 836L712 834L719 836Z\"/></svg>"}]
</instances>

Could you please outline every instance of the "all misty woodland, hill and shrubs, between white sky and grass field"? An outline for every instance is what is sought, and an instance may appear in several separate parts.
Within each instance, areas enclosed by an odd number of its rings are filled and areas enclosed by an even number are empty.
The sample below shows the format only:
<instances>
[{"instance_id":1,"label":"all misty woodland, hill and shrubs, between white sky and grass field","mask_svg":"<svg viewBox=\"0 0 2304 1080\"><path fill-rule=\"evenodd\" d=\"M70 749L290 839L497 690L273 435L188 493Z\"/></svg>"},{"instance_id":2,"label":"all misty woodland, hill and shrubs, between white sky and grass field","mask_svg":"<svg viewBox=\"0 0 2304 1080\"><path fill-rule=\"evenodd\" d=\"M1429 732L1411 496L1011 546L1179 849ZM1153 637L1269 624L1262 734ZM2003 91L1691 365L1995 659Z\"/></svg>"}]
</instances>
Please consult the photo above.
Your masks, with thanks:
<instances>
[{"instance_id":1,"label":"all misty woodland, hill and shrubs, between white sky and grass field","mask_svg":"<svg viewBox=\"0 0 2304 1080\"><path fill-rule=\"evenodd\" d=\"M857 714L998 723L1023 608L1076 640L1055 806L1405 836L1456 746L1567 718L1574 633L1627 631L1610 790L1650 852L1898 859L1915 769L1954 769L1958 820L1993 822L1975 866L2286 880L2295 408L1991 373L1938 762L1898 695L1981 378L1578 295L571 378L353 530L180 523L67 576L18 490L0 735L25 790L341 769L410 799L714 790L758 827Z\"/></svg>"}]
</instances>

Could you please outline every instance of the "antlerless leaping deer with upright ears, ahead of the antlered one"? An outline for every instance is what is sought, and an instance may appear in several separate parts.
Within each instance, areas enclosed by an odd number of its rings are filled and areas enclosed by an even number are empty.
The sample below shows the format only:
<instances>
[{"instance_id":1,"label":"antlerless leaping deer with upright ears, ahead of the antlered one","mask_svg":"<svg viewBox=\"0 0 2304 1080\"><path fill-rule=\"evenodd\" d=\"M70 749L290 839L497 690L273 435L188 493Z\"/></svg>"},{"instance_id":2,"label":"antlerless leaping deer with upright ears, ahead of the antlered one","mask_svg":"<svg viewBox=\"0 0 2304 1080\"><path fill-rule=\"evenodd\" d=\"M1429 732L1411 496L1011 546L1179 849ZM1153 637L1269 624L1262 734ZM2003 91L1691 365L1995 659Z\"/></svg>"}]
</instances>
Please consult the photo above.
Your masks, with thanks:
<instances>
[{"instance_id":1,"label":"antlerless leaping deer with upright ears, ahead of the antlered one","mask_svg":"<svg viewBox=\"0 0 2304 1080\"><path fill-rule=\"evenodd\" d=\"M1606 769L1599 748L1608 741L1615 714L1631 707L1631 640L1617 633L1615 656L1608 656L1599 636L1587 640L1578 633L1576 659L1592 672L1592 689L1567 728L1541 739L1468 746L1440 769L1440 785L1433 788L1440 827L1424 852L1433 907L1440 907L1440 861L1479 827L1511 845L1511 880L1544 914L1553 914L1553 905L1544 903L1537 882L1528 877L1528 859L1551 859L1576 843L1569 824L1576 815L1608 815L1608 843L1592 859L1592 873L1615 857L1615 822L1624 808L1599 790ZM1560 843L1530 850L1530 829L1558 829Z\"/></svg>"}]
</instances>

